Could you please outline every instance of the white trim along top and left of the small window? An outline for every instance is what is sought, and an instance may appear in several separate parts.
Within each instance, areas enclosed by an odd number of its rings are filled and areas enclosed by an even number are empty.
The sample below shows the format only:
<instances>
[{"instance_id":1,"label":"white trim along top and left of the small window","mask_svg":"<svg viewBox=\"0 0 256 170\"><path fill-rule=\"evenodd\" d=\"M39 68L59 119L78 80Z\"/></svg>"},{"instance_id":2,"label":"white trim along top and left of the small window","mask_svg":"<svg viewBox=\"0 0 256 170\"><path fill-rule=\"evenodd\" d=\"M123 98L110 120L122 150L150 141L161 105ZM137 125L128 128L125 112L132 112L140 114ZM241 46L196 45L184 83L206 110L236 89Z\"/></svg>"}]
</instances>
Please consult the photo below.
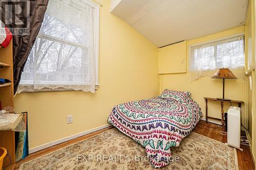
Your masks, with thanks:
<instances>
[{"instance_id":1,"label":"white trim along top and left of the small window","mask_svg":"<svg viewBox=\"0 0 256 170\"><path fill-rule=\"evenodd\" d=\"M230 39L230 38L235 38L235 37L239 37L239 36L244 36L244 33L238 33L238 34L233 34L230 36L226 36L226 37L221 37L221 38L216 38L210 41L205 41L205 42L200 42L200 43L196 43L193 45L189 45L188 46L188 72L193 72L193 69L191 68L191 62L193 62L193 57L191 56L191 48L195 47L195 46L199 46L199 45L207 45L208 43L212 43L212 42L217 42L217 41L222 41L225 39ZM211 71L211 70L204 70L204 71Z\"/></svg>"}]
</instances>

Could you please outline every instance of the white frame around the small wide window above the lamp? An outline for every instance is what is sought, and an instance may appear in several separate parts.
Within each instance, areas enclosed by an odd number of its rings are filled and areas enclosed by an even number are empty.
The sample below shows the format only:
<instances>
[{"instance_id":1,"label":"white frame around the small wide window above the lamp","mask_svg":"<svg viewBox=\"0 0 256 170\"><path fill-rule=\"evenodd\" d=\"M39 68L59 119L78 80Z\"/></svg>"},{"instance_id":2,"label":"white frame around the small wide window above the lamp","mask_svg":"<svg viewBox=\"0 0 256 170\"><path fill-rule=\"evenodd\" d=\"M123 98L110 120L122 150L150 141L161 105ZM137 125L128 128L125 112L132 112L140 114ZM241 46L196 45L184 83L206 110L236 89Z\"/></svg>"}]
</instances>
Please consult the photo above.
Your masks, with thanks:
<instances>
[{"instance_id":1,"label":"white frame around the small wide window above the lamp","mask_svg":"<svg viewBox=\"0 0 256 170\"><path fill-rule=\"evenodd\" d=\"M233 34L233 35L230 35L230 36L225 36L225 37L217 38L217 39L210 40L210 41L205 41L205 42L200 42L200 43L196 43L196 44L193 44L193 45L189 45L188 46L188 72L194 72L195 71L194 67L192 66L193 63L194 63L194 57L191 54L191 48L196 47L196 46L200 46L200 47L215 46L215 51L216 51L217 50L217 48L216 48L217 45L226 43L226 42L230 41L230 39L232 39L232 38L236 38L236 37L244 36L244 35L245 35L244 33L238 33L238 34ZM211 45L208 45L208 44L211 44ZM215 55L215 58L216 58L217 53L215 53L214 55ZM202 70L202 71L214 71L214 70L217 70L217 69L218 68L213 69L213 70L212 69L207 69L207 70Z\"/></svg>"}]
</instances>

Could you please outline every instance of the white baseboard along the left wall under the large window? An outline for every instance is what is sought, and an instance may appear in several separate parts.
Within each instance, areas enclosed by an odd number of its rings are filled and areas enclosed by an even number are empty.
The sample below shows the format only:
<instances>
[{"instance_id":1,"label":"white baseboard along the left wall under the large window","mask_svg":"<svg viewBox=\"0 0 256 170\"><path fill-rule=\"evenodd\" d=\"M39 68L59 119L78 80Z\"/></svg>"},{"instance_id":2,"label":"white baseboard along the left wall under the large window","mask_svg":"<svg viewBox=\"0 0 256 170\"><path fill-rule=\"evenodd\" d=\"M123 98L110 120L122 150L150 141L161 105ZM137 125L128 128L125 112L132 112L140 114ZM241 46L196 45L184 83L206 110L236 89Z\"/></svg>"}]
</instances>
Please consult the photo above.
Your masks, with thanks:
<instances>
[{"instance_id":1,"label":"white baseboard along the left wall under the large window","mask_svg":"<svg viewBox=\"0 0 256 170\"><path fill-rule=\"evenodd\" d=\"M90 129L88 131L84 131L84 132L77 133L77 134L74 134L74 135L71 135L71 136L68 136L68 137L65 137L65 138L61 138L59 140L55 140L55 141L52 141L52 142L49 142L49 143L46 143L46 144L39 145L38 147L29 149L29 154L32 154L34 152L52 147L53 145L56 145L56 144L59 144L59 143L62 143L62 142L66 142L68 140L71 140L71 139L74 139L74 138L77 138L77 137L80 137L80 136L83 136L83 135L87 135L89 133L93 133L93 132L96 132L96 131L99 131L99 130L102 130L102 129L105 129L105 128L108 128L108 127L111 127L111 126L112 126L111 124L103 125L103 126L100 126L100 127L94 128L94 129Z\"/></svg>"}]
</instances>

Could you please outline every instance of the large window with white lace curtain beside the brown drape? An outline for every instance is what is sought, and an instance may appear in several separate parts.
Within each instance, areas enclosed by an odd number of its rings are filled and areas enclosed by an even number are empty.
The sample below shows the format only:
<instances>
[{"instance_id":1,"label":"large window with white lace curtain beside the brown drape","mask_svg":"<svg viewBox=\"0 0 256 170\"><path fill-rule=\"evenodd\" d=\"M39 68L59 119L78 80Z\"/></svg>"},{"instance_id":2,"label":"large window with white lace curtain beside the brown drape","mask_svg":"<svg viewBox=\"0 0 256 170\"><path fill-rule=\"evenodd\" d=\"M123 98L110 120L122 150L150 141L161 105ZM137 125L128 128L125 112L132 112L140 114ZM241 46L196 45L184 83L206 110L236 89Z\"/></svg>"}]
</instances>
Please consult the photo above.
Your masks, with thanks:
<instances>
[{"instance_id":1,"label":"large window with white lace curtain beside the brown drape","mask_svg":"<svg viewBox=\"0 0 256 170\"><path fill-rule=\"evenodd\" d=\"M57 7L57 8L56 8ZM99 7L87 0L51 0L27 59L18 92L98 84Z\"/></svg>"}]
</instances>

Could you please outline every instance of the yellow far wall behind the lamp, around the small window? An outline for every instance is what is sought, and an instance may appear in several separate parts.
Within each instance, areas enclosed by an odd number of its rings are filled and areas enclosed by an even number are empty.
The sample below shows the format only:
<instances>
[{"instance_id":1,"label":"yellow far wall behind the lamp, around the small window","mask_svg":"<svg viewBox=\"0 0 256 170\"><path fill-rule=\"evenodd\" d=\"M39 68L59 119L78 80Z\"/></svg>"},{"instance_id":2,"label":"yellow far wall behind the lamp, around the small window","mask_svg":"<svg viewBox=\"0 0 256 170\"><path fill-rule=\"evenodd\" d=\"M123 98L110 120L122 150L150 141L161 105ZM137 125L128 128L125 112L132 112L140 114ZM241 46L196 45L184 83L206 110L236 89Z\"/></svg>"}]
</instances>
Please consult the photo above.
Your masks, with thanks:
<instances>
[{"instance_id":1,"label":"yellow far wall behind the lamp, around the small window","mask_svg":"<svg viewBox=\"0 0 256 170\"><path fill-rule=\"evenodd\" d=\"M186 41L186 62L188 70L188 47L189 45L227 37L244 33L244 26L223 31L220 33L208 35L201 38ZM182 52L181 52L182 53ZM166 63L168 64L168 63ZM179 74L160 75L160 91L165 88L173 90L190 91L192 98L200 105L205 118L205 100L204 97L221 98L222 97L222 80L211 79L210 77L202 77L198 80L190 82L190 72ZM245 101L245 80L226 80L225 81L225 98L232 100ZM225 105L225 111L229 108L229 104ZM244 114L244 105L242 105L242 114ZM219 102L208 102L208 116L221 118L221 106Z\"/></svg>"}]
</instances>

